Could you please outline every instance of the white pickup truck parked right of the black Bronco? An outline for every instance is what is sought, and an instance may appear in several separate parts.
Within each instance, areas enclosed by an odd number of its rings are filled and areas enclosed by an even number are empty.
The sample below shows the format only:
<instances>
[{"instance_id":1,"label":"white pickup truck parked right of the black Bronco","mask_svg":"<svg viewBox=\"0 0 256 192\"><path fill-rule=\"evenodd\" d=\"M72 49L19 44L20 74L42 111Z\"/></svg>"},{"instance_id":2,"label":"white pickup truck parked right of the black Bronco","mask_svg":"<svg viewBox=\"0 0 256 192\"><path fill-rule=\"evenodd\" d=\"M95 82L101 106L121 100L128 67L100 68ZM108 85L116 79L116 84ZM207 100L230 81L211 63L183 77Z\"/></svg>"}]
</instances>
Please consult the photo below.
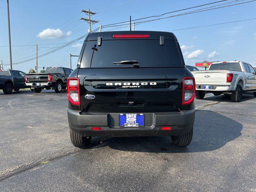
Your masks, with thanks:
<instances>
[{"instance_id":1,"label":"white pickup truck parked right of the black Bronco","mask_svg":"<svg viewBox=\"0 0 256 192\"><path fill-rule=\"evenodd\" d=\"M203 99L206 93L215 96L229 94L233 102L240 102L243 92L256 96L256 72L242 61L215 62L209 70L193 71L196 80L196 98Z\"/></svg>"}]
</instances>

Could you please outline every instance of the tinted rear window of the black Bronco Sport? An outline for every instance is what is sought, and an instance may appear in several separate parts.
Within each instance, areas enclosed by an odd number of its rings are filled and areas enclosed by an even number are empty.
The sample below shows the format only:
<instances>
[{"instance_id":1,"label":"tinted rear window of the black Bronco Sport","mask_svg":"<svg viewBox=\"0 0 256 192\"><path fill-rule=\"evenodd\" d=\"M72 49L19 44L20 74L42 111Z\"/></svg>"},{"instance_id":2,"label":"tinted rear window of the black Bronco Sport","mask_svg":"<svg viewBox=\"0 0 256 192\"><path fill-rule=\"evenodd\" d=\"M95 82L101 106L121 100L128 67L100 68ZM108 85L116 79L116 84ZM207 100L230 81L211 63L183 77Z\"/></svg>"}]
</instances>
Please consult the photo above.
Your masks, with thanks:
<instances>
[{"instance_id":1,"label":"tinted rear window of the black Bronco Sport","mask_svg":"<svg viewBox=\"0 0 256 192\"><path fill-rule=\"evenodd\" d=\"M105 40L88 41L80 68L124 68L132 64L113 64L125 60L137 60L141 67L182 67L175 40Z\"/></svg>"}]
</instances>

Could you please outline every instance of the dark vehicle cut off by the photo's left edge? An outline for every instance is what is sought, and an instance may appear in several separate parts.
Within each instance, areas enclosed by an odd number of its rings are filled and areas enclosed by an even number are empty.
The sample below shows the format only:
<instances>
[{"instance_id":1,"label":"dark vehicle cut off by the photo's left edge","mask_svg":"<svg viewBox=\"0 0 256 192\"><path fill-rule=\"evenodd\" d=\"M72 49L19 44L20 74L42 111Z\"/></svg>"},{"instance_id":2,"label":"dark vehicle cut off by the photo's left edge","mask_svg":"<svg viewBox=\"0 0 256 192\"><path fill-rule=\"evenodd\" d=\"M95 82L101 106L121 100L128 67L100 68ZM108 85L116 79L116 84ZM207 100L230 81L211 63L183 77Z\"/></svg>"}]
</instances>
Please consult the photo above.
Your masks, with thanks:
<instances>
[{"instance_id":1,"label":"dark vehicle cut off by the photo's left edge","mask_svg":"<svg viewBox=\"0 0 256 192\"><path fill-rule=\"evenodd\" d=\"M0 89L4 94L11 94L12 90L18 91L26 88L25 73L18 70L0 70Z\"/></svg>"}]
</instances>

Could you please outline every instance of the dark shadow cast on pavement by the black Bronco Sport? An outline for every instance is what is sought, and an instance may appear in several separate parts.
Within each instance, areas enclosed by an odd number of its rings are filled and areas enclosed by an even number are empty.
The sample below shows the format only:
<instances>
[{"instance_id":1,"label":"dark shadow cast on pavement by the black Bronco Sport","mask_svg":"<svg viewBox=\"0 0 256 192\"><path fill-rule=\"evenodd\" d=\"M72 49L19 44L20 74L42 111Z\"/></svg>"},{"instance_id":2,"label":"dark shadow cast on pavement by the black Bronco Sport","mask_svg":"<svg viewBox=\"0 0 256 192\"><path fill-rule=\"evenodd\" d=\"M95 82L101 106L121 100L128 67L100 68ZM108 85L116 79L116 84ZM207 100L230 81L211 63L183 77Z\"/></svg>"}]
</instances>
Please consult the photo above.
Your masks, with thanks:
<instances>
[{"instance_id":1,"label":"dark shadow cast on pavement by the black Bronco Sport","mask_svg":"<svg viewBox=\"0 0 256 192\"><path fill-rule=\"evenodd\" d=\"M192 142L185 148L175 147L170 137L112 138L110 148L131 152L190 153L217 150L241 135L242 124L212 111L196 112ZM104 145L104 146L106 146ZM99 146L102 147L102 146Z\"/></svg>"}]
</instances>

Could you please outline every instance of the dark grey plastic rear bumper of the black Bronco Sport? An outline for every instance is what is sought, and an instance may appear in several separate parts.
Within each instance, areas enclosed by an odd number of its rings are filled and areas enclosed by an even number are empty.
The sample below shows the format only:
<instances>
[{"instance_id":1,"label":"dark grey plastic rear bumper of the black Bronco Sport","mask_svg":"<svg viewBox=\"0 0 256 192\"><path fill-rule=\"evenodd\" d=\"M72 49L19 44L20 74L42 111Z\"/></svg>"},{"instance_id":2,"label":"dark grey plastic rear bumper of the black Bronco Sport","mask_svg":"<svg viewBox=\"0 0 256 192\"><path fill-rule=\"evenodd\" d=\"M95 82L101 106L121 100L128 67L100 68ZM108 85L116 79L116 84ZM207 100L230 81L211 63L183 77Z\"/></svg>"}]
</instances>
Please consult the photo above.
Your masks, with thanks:
<instances>
[{"instance_id":1,"label":"dark grey plastic rear bumper of the black Bronco Sport","mask_svg":"<svg viewBox=\"0 0 256 192\"><path fill-rule=\"evenodd\" d=\"M140 128L119 127L119 113L81 113L68 109L68 123L72 131L82 136L180 136L192 129L195 109L181 112L144 113L145 126ZM171 126L171 130L161 130ZM101 131L92 131L101 127Z\"/></svg>"}]
</instances>

